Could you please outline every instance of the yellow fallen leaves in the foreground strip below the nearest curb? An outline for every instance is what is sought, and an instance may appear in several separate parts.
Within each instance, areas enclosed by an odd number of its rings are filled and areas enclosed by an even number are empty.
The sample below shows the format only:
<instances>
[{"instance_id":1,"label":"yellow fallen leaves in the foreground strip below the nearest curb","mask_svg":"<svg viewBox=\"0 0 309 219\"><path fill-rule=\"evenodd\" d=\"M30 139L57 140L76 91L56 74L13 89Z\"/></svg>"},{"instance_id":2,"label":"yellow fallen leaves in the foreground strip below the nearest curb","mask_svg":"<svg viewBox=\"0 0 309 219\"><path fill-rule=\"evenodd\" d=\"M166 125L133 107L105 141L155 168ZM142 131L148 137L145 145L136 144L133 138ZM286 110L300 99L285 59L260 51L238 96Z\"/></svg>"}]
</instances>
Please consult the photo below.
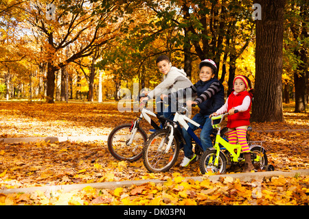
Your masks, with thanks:
<instances>
[{"instance_id":1,"label":"yellow fallen leaves in the foreground strip below the nearest curb","mask_svg":"<svg viewBox=\"0 0 309 219\"><path fill-rule=\"evenodd\" d=\"M166 183L98 190L87 186L71 192L0 194L0 205L308 205L309 177L272 177L242 182L194 181L175 172ZM228 179L231 178L231 179Z\"/></svg>"}]
</instances>

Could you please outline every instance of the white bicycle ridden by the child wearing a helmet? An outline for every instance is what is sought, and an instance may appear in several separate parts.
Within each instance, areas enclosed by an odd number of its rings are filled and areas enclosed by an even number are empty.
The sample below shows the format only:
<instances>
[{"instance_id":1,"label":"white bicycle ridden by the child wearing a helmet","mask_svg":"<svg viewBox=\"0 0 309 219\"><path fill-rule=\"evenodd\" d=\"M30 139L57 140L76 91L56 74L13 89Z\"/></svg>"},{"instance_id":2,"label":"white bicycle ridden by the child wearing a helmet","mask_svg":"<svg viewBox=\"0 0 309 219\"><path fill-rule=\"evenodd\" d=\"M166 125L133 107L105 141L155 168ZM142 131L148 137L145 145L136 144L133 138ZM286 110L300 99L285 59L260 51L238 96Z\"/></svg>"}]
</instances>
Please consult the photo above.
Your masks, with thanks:
<instances>
[{"instance_id":1,"label":"white bicycle ridden by the child wearing a helmet","mask_svg":"<svg viewBox=\"0 0 309 219\"><path fill-rule=\"evenodd\" d=\"M187 112L187 107L181 105L179 110L176 111L174 119L170 120L165 118L166 122L163 129L152 133L148 138L143 149L144 166L148 171L165 172L174 166L180 151L180 141L185 144L181 131L177 129L179 125L187 130L192 140L196 143L194 146L196 155L202 155L202 142L189 125L187 125L186 121L201 129L203 127L194 122L194 120L188 118L185 115ZM223 135L224 133L222 133L222 136Z\"/></svg>"}]
</instances>

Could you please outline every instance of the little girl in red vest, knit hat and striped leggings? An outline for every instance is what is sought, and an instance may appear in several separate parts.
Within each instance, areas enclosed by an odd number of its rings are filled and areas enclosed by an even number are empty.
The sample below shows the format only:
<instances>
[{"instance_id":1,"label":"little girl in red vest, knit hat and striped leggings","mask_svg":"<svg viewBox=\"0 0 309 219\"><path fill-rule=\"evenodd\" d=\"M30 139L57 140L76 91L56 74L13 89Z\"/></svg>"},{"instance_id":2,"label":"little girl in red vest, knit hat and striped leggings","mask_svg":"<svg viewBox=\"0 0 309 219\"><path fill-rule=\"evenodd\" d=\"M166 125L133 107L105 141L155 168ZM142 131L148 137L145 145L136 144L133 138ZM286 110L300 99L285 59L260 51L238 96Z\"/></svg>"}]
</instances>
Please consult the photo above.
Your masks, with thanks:
<instances>
[{"instance_id":1,"label":"little girl in red vest, knit hat and striped leggings","mask_svg":"<svg viewBox=\"0 0 309 219\"><path fill-rule=\"evenodd\" d=\"M242 172L251 172L254 170L251 162L251 153L247 142L247 128L250 125L250 110L252 102L252 93L247 90L251 88L251 81L244 75L238 75L233 81L233 92L229 95L225 105L217 110L211 116L218 116L229 112L227 117L227 127L229 128L228 137L230 144L238 143L242 146L244 153L244 170ZM238 113L235 113L238 110Z\"/></svg>"}]
</instances>

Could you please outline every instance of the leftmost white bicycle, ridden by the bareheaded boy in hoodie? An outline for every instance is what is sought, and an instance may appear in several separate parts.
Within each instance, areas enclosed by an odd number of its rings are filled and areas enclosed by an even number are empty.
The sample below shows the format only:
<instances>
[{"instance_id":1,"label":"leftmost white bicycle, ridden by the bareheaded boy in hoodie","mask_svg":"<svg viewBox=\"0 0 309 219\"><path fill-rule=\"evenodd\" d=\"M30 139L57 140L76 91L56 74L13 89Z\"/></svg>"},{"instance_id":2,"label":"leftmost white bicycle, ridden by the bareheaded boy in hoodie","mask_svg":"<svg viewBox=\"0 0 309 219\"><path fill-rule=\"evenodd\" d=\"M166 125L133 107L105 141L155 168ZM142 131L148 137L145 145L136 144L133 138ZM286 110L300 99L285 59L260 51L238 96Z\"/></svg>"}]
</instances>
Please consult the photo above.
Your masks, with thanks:
<instances>
[{"instance_id":1,"label":"leftmost white bicycle, ridden by the bareheaded boy in hoodie","mask_svg":"<svg viewBox=\"0 0 309 219\"><path fill-rule=\"evenodd\" d=\"M142 95L139 97L142 97ZM145 118L155 130L161 129L150 116L158 118L161 124L165 123L163 116L147 110L145 104L141 109L141 114L132 123L118 125L109 133L107 147L113 157L130 162L135 162L141 158L144 143L148 139L147 133L139 126L141 120Z\"/></svg>"}]
</instances>

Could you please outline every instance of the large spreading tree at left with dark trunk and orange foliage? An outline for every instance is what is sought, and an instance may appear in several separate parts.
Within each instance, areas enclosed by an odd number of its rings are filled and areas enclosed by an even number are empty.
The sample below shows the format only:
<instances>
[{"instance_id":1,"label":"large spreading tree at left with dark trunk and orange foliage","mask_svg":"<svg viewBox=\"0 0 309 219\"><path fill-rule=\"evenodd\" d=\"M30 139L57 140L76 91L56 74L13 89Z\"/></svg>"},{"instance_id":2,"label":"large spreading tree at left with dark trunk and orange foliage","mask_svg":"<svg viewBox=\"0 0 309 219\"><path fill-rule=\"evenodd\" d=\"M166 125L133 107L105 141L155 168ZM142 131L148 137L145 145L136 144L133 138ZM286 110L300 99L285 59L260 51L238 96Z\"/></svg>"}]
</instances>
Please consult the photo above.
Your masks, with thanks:
<instances>
[{"instance_id":1,"label":"large spreading tree at left with dark trunk and orange foliage","mask_svg":"<svg viewBox=\"0 0 309 219\"><path fill-rule=\"evenodd\" d=\"M33 1L27 6L29 22L42 33L43 58L47 60L47 103L54 103L55 72L69 62L87 57L95 47L115 38L121 1L54 1L55 20L46 16L46 5ZM93 11L97 12L94 13ZM69 55L59 59L61 51L71 47Z\"/></svg>"}]
</instances>

